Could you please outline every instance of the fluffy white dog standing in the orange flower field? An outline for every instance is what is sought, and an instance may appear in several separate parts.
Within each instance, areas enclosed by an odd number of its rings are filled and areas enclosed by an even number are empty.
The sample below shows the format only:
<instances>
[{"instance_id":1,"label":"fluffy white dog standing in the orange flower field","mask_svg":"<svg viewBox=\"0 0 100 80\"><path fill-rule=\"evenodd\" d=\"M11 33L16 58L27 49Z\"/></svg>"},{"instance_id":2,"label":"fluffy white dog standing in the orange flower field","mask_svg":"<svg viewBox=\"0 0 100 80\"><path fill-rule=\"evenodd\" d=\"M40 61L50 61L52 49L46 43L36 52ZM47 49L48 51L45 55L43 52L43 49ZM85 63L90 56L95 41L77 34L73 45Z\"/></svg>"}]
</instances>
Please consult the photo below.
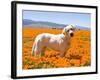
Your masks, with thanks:
<instances>
[{"instance_id":1,"label":"fluffy white dog standing in the orange flower field","mask_svg":"<svg viewBox=\"0 0 100 80\"><path fill-rule=\"evenodd\" d=\"M70 47L70 38L74 36L75 27L73 25L66 26L61 34L54 35L49 33L39 34L33 44L32 54L41 56L45 48L49 47L60 52L63 57Z\"/></svg>"}]
</instances>

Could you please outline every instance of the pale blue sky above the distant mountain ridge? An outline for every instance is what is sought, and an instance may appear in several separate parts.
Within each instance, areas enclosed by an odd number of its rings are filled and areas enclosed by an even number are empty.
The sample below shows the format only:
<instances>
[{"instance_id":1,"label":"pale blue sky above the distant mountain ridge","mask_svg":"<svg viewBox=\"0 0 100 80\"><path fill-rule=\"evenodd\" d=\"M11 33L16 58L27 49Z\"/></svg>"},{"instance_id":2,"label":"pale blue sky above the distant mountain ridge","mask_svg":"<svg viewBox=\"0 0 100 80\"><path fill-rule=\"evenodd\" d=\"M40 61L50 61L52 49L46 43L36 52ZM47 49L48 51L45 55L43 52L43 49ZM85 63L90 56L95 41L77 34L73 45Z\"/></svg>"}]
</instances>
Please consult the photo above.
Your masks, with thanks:
<instances>
[{"instance_id":1,"label":"pale blue sky above the distant mountain ridge","mask_svg":"<svg viewBox=\"0 0 100 80\"><path fill-rule=\"evenodd\" d=\"M23 11L23 19L34 21L48 21L59 24L73 24L83 27L91 27L90 13L73 12L47 12L47 11Z\"/></svg>"}]
</instances>

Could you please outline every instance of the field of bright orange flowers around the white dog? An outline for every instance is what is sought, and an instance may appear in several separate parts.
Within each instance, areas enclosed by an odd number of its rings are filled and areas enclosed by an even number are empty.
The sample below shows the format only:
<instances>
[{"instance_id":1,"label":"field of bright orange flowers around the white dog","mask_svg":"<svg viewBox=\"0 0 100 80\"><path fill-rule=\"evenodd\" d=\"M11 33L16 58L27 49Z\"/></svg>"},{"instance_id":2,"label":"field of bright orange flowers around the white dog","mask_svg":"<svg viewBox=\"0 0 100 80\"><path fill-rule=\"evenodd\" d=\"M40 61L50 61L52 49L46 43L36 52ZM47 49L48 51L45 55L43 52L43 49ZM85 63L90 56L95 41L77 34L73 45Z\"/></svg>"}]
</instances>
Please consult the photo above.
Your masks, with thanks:
<instances>
[{"instance_id":1,"label":"field of bright orange flowers around the white dog","mask_svg":"<svg viewBox=\"0 0 100 80\"><path fill-rule=\"evenodd\" d=\"M23 28L23 69L81 67L91 65L91 39L89 30L78 30L71 39L71 46L65 57L58 57L59 52L46 49L44 56L32 56L31 50L34 39L41 33L59 34L62 30Z\"/></svg>"}]
</instances>

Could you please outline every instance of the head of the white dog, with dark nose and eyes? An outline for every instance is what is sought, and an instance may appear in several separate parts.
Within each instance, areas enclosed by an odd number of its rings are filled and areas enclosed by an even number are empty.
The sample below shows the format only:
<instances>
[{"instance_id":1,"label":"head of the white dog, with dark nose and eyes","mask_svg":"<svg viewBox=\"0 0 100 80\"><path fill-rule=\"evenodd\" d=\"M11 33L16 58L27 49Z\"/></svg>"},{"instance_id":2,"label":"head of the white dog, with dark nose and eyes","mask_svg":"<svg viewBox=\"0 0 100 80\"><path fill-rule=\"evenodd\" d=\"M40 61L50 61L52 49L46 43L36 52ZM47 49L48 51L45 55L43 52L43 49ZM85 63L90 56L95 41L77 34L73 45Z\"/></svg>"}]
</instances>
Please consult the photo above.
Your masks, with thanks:
<instances>
[{"instance_id":1,"label":"head of the white dog, with dark nose and eyes","mask_svg":"<svg viewBox=\"0 0 100 80\"><path fill-rule=\"evenodd\" d=\"M63 29L63 34L64 35L68 35L70 37L73 37L74 36L74 31L75 31L75 26L73 25L68 25L66 26L64 29Z\"/></svg>"}]
</instances>

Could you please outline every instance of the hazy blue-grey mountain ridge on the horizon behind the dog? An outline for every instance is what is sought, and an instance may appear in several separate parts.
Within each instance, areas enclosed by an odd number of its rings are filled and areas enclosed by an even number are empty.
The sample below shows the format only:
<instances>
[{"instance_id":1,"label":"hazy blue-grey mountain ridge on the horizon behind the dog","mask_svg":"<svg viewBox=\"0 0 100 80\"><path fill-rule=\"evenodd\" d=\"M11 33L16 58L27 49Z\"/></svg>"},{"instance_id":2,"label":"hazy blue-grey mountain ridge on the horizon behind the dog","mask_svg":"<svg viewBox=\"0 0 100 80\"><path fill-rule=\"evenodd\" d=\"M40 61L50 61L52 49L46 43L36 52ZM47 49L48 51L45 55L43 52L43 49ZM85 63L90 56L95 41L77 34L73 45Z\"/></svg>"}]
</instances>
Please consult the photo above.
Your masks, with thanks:
<instances>
[{"instance_id":1,"label":"hazy blue-grey mountain ridge on the horizon behind the dog","mask_svg":"<svg viewBox=\"0 0 100 80\"><path fill-rule=\"evenodd\" d=\"M58 23L53 23L53 22L46 22L46 21L33 21L33 20L28 20L28 19L23 19L23 26L24 27L41 27L41 28L64 28L68 24L58 24ZM85 30L90 30L90 28L83 27L83 26L78 26L78 29L85 29Z\"/></svg>"}]
</instances>

